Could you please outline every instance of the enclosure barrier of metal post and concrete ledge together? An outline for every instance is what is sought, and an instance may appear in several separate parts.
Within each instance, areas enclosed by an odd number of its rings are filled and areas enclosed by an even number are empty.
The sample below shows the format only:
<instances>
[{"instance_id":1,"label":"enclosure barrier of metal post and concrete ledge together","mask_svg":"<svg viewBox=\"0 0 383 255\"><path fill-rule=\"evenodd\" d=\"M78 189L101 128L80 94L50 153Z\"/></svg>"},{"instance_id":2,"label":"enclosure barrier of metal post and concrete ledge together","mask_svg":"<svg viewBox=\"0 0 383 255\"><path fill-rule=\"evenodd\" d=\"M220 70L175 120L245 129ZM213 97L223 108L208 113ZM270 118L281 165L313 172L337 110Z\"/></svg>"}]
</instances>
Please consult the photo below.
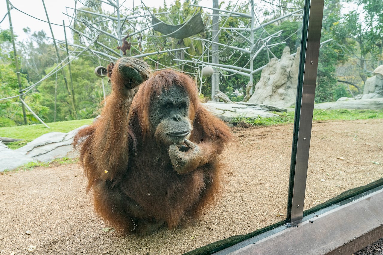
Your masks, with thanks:
<instances>
[{"instance_id":1,"label":"enclosure barrier of metal post and concrete ledge together","mask_svg":"<svg viewBox=\"0 0 383 255\"><path fill-rule=\"evenodd\" d=\"M383 178L303 211L323 7L304 2L286 219L185 254L351 254L383 237Z\"/></svg>"}]
</instances>

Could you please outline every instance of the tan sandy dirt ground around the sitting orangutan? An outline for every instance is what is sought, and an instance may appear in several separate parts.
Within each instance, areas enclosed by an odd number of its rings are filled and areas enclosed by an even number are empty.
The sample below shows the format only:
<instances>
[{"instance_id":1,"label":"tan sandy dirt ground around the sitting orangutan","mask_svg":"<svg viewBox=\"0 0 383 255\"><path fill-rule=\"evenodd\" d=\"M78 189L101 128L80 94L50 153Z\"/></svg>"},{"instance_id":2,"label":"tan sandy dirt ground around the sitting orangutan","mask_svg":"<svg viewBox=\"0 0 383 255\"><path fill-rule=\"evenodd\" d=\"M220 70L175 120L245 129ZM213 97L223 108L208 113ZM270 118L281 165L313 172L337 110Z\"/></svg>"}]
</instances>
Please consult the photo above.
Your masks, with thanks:
<instances>
[{"instance_id":1,"label":"tan sandy dirt ground around the sitting orangutan","mask_svg":"<svg viewBox=\"0 0 383 255\"><path fill-rule=\"evenodd\" d=\"M313 124L305 209L383 177L382 130L383 119ZM182 254L285 219L293 125L232 132L221 199L149 236L103 232L77 164L0 175L0 254Z\"/></svg>"}]
</instances>

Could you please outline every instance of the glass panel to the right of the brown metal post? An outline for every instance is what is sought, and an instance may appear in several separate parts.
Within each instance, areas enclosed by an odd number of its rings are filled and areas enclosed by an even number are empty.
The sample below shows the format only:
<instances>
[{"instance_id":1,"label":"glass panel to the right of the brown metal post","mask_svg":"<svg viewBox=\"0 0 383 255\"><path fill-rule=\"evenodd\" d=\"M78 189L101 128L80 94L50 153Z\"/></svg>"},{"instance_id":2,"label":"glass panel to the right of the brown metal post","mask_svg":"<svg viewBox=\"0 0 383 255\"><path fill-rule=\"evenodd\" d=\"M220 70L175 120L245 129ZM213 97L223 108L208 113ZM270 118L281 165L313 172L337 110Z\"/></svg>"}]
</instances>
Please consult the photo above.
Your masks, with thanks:
<instances>
[{"instance_id":1,"label":"glass panel to the right of the brown metal post","mask_svg":"<svg viewBox=\"0 0 383 255\"><path fill-rule=\"evenodd\" d=\"M305 209L383 177L377 3L325 1Z\"/></svg>"}]
</instances>

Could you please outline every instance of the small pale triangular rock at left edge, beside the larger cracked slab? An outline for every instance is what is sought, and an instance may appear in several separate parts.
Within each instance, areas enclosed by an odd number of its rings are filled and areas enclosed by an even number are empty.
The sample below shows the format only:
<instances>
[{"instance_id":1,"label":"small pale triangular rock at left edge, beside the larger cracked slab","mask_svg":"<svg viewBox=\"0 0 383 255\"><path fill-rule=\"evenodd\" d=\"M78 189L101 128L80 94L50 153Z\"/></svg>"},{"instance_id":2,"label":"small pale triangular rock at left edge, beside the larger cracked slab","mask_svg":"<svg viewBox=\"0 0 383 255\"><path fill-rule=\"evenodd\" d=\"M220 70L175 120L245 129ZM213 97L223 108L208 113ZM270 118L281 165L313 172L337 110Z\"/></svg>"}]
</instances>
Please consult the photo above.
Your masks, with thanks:
<instances>
[{"instance_id":1,"label":"small pale triangular rock at left edge, beside the larger cracked slab","mask_svg":"<svg viewBox=\"0 0 383 255\"><path fill-rule=\"evenodd\" d=\"M3 142L0 142L0 172L4 172L6 169L13 170L26 163L36 161L36 159L9 149Z\"/></svg>"}]
</instances>

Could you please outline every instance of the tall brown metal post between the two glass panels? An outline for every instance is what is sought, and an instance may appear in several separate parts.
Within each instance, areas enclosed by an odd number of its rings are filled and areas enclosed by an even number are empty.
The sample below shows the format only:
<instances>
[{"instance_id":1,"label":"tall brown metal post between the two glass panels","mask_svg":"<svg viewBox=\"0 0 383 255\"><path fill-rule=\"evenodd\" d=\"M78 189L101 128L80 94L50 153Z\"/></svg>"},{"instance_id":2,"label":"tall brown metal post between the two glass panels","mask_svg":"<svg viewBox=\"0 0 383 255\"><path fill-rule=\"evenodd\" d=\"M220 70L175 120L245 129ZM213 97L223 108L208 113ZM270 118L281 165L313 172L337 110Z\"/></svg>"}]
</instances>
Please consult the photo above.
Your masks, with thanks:
<instances>
[{"instance_id":1,"label":"tall brown metal post between the two glass panels","mask_svg":"<svg viewBox=\"0 0 383 255\"><path fill-rule=\"evenodd\" d=\"M324 0L304 2L287 220L303 217Z\"/></svg>"}]
</instances>

